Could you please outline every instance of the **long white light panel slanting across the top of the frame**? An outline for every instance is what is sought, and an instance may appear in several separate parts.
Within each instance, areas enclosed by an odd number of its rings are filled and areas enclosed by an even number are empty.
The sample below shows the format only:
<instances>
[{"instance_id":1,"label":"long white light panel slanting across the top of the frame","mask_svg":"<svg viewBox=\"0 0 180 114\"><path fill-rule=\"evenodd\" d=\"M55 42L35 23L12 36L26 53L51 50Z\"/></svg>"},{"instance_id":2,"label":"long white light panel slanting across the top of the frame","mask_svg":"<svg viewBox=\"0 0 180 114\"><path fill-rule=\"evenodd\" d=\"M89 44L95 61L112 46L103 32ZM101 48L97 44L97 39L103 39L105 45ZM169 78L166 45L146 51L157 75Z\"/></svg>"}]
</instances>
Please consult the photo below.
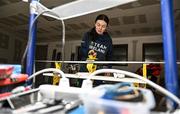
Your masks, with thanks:
<instances>
[{"instance_id":1,"label":"long white light panel slanting across the top of the frame","mask_svg":"<svg viewBox=\"0 0 180 114\"><path fill-rule=\"evenodd\" d=\"M134 1L137 0L77 0L51 9L58 17L52 13L45 13L44 15L66 20Z\"/></svg>"}]
</instances>

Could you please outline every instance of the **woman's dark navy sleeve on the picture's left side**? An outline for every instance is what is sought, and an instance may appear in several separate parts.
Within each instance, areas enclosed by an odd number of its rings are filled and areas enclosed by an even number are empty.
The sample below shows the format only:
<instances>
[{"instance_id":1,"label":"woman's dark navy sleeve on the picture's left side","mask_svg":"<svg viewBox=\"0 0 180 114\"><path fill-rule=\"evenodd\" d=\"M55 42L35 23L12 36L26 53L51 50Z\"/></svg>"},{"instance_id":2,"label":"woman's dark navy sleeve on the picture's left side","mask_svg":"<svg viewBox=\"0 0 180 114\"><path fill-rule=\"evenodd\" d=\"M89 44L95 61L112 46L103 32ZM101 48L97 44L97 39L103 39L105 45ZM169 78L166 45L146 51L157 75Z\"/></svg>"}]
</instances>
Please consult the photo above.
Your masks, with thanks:
<instances>
[{"instance_id":1,"label":"woman's dark navy sleeve on the picture's left side","mask_svg":"<svg viewBox=\"0 0 180 114\"><path fill-rule=\"evenodd\" d=\"M81 52L80 55L82 61L85 61L87 59L88 50L89 50L88 34L85 33L81 41L81 48L80 48L80 52Z\"/></svg>"}]
</instances>

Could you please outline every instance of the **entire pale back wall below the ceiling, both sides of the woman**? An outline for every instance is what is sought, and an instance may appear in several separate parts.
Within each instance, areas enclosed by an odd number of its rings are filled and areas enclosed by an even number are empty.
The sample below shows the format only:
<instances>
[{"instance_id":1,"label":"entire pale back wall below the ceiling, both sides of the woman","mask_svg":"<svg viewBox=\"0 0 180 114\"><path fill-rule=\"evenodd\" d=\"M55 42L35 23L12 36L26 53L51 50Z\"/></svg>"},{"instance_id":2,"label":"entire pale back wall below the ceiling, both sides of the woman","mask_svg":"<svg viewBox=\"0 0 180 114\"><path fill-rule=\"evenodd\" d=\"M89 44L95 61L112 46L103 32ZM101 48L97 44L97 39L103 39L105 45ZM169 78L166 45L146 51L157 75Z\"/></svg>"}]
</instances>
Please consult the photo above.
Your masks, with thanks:
<instances>
[{"instance_id":1,"label":"entire pale back wall below the ceiling, both sides of the woman","mask_svg":"<svg viewBox=\"0 0 180 114\"><path fill-rule=\"evenodd\" d=\"M140 37L124 37L112 38L113 44L128 44L128 61L142 61L142 46L143 43L159 43L162 42L162 36L140 36ZM77 47L80 46L81 41L66 41L65 44L65 60L69 61L71 53L77 53ZM53 49L61 52L61 47L57 42L48 43L48 60L52 58ZM77 54L76 54L77 56ZM140 65L128 65L123 67L115 67L129 71L135 71ZM49 67L49 65L47 65Z\"/></svg>"}]
</instances>

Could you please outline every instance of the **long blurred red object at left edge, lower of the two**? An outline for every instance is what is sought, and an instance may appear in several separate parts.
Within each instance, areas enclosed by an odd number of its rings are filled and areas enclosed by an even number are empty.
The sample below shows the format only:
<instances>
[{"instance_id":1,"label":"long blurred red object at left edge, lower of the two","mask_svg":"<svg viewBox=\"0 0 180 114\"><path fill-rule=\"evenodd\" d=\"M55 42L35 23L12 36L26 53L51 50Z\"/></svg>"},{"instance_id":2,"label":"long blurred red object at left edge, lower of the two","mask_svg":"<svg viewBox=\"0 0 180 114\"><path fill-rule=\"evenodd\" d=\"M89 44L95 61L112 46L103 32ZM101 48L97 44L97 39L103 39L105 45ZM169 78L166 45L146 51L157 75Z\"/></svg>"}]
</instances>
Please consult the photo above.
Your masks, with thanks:
<instances>
[{"instance_id":1,"label":"long blurred red object at left edge, lower of the two","mask_svg":"<svg viewBox=\"0 0 180 114\"><path fill-rule=\"evenodd\" d=\"M18 74L13 78L6 78L4 80L0 80L0 86L12 85L20 82L24 82L28 79L27 74Z\"/></svg>"}]
</instances>

